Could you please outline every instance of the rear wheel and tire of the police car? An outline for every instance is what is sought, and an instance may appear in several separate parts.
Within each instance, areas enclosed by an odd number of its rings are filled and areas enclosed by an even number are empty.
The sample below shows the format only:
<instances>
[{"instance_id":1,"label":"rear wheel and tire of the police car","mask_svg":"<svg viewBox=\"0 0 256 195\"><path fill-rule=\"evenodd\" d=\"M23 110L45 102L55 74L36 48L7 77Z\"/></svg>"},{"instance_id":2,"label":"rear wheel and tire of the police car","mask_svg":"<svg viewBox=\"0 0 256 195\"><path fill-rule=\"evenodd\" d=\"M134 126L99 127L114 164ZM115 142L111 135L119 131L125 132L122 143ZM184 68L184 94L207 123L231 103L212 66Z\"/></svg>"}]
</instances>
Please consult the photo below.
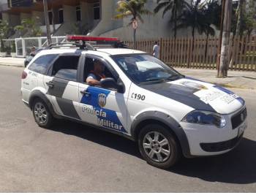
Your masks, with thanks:
<instances>
[{"instance_id":1,"label":"rear wheel and tire of the police car","mask_svg":"<svg viewBox=\"0 0 256 195\"><path fill-rule=\"evenodd\" d=\"M54 118L50 113L47 104L42 101L42 99L35 99L32 107L34 121L36 121L37 125L48 129L53 125Z\"/></svg>"}]
</instances>

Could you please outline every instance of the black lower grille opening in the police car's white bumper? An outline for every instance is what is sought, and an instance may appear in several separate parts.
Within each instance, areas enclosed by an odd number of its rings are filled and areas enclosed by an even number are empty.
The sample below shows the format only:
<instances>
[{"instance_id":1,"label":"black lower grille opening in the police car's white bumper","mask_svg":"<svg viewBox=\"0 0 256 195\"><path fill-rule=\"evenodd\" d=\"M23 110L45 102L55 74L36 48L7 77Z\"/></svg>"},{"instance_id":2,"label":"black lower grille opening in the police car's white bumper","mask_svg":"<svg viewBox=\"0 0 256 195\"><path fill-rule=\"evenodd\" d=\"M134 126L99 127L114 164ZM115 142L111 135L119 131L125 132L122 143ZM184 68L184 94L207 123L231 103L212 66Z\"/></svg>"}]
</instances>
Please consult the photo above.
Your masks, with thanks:
<instances>
[{"instance_id":1,"label":"black lower grille opening in the police car's white bumper","mask_svg":"<svg viewBox=\"0 0 256 195\"><path fill-rule=\"evenodd\" d=\"M224 142L200 143L200 147L208 153L221 152L234 148L242 137L243 135Z\"/></svg>"}]
</instances>

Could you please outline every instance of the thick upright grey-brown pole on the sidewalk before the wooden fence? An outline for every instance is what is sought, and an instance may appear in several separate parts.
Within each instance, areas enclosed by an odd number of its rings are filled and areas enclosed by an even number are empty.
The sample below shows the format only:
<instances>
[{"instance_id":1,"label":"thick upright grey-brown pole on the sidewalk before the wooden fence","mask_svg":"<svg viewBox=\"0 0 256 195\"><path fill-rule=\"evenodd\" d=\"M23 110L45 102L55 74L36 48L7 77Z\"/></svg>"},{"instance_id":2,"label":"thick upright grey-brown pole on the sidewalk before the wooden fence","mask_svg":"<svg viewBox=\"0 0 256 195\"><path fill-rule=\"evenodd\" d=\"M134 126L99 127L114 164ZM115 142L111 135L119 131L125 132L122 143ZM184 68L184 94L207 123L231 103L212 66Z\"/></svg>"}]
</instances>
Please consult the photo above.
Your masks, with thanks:
<instances>
[{"instance_id":1,"label":"thick upright grey-brown pole on the sidewalk before the wooden fence","mask_svg":"<svg viewBox=\"0 0 256 195\"><path fill-rule=\"evenodd\" d=\"M230 29L232 18L232 0L225 2L225 17L223 22L222 51L220 56L219 77L227 77L228 69L228 51L230 42Z\"/></svg>"}]
</instances>

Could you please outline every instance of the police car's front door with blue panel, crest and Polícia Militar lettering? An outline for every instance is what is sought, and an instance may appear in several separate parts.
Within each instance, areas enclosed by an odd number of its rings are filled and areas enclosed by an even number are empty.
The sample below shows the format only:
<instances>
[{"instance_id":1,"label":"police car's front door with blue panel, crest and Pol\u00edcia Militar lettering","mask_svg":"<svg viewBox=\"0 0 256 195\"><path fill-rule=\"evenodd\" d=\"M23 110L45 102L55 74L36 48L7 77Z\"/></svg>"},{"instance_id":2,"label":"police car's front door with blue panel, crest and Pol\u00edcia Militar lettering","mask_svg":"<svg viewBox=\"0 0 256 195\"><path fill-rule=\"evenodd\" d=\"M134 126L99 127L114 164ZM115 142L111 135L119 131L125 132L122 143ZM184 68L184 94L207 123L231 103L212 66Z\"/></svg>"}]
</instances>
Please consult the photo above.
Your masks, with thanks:
<instances>
[{"instance_id":1,"label":"police car's front door with blue panel, crest and Pol\u00edcia Militar lettering","mask_svg":"<svg viewBox=\"0 0 256 195\"><path fill-rule=\"evenodd\" d=\"M101 86L90 86L86 77L94 67L94 61L101 61L105 66L106 77L118 77L111 65L98 56L86 55L83 72L83 82L79 83L80 118L86 123L120 131L127 134L127 98L128 91L118 93Z\"/></svg>"}]
</instances>

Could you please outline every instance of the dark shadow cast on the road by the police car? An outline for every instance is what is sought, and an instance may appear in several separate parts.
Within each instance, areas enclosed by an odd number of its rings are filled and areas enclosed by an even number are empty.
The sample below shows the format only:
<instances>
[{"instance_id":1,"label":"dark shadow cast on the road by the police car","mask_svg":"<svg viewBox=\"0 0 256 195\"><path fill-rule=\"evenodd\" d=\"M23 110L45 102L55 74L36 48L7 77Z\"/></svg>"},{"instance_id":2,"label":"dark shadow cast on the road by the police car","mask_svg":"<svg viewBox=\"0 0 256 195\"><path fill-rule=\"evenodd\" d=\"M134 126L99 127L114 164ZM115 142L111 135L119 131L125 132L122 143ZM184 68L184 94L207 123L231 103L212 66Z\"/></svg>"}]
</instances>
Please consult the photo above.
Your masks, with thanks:
<instances>
[{"instance_id":1,"label":"dark shadow cast on the road by the police car","mask_svg":"<svg viewBox=\"0 0 256 195\"><path fill-rule=\"evenodd\" d=\"M51 130L80 137L141 158L136 142L116 134L62 120ZM221 156L182 158L176 166L167 171L209 182L256 183L256 141L243 138L237 148Z\"/></svg>"}]
</instances>

